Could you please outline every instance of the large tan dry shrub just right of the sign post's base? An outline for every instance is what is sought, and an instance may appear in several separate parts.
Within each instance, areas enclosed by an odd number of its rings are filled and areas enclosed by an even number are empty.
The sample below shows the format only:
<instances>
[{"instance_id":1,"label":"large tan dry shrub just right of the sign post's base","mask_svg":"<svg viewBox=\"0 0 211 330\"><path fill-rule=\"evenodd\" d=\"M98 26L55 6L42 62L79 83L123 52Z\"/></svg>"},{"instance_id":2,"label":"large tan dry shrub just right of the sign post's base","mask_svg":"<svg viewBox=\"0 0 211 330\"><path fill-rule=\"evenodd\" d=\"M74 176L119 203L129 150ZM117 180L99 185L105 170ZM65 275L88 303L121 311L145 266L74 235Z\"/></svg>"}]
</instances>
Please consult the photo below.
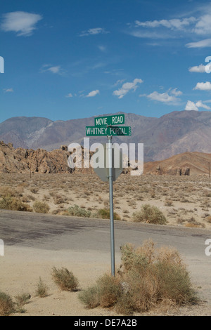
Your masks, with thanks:
<instances>
[{"instance_id":1,"label":"large tan dry shrub just right of the sign post's base","mask_svg":"<svg viewBox=\"0 0 211 330\"><path fill-rule=\"evenodd\" d=\"M141 312L167 301L183 305L197 301L186 265L175 249L155 249L152 241L134 249L125 244L122 251L122 279L129 286L132 310Z\"/></svg>"}]
</instances>

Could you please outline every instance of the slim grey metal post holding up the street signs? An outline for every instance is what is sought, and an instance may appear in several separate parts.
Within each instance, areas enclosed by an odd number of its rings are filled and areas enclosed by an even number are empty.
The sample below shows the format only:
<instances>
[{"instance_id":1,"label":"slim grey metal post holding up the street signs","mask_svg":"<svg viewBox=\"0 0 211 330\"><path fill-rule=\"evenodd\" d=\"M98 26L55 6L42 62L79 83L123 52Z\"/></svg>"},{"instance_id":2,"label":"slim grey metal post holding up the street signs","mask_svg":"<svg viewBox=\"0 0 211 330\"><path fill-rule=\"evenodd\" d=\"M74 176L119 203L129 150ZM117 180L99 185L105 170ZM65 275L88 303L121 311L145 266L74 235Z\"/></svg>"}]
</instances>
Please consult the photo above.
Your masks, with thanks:
<instances>
[{"instance_id":1,"label":"slim grey metal post holding up the street signs","mask_svg":"<svg viewBox=\"0 0 211 330\"><path fill-rule=\"evenodd\" d=\"M110 201L110 260L111 275L115 276L115 240L113 220L113 160L112 160L112 136L108 136L108 178L109 178L109 201Z\"/></svg>"}]
</instances>

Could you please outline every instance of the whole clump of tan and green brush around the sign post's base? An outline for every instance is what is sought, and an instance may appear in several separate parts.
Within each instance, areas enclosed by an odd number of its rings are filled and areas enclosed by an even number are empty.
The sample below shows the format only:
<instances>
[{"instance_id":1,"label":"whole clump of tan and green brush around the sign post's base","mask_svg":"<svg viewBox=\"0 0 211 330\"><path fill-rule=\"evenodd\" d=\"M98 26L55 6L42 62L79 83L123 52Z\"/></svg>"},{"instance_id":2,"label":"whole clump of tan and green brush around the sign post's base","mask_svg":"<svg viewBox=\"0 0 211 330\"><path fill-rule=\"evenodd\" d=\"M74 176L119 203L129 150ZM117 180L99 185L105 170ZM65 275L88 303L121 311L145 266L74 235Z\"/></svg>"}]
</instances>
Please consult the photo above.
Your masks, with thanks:
<instances>
[{"instance_id":1,"label":"whole clump of tan and green brush around the sign post's base","mask_svg":"<svg viewBox=\"0 0 211 330\"><path fill-rule=\"evenodd\" d=\"M196 303L190 277L177 250L155 249L147 241L138 249L121 247L122 265L117 277L103 275L94 286L79 293L87 308L113 307L123 315L151 308Z\"/></svg>"}]
</instances>

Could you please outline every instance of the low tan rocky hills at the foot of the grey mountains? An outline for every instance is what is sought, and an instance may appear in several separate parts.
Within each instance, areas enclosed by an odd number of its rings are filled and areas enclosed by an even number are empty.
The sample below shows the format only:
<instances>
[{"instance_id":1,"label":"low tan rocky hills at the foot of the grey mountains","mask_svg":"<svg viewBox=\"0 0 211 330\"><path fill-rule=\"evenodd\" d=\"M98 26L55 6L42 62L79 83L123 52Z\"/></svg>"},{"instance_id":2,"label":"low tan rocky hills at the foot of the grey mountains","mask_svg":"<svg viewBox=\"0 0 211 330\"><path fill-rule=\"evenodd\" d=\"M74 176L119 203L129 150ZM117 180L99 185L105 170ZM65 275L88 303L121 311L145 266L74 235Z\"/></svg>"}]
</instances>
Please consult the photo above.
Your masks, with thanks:
<instances>
[{"instance_id":1,"label":"low tan rocky hills at the foot of the grey mountains","mask_svg":"<svg viewBox=\"0 0 211 330\"><path fill-rule=\"evenodd\" d=\"M90 153L89 157L93 152ZM79 159L78 150L76 159ZM14 148L11 143L0 141L0 173L94 173L94 170L80 169L77 164L75 169L68 166L67 146L46 151L44 149ZM82 159L84 150L82 148ZM149 161L144 163L144 174L155 175L193 175L208 174L209 163L211 172L211 154L203 152L184 152L162 161ZM123 173L129 173L132 169L124 169Z\"/></svg>"}]
</instances>

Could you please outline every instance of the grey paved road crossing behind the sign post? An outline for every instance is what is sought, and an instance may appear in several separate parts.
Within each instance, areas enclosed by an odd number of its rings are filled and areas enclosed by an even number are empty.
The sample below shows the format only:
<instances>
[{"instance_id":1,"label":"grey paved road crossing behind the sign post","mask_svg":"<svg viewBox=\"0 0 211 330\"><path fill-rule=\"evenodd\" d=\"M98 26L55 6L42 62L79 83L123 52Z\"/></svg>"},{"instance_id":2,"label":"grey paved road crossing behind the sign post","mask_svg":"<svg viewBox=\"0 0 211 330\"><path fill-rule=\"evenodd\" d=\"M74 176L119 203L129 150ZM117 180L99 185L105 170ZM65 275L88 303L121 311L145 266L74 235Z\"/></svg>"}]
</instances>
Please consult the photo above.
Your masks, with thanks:
<instances>
[{"instance_id":1,"label":"grey paved road crossing behind the sign post","mask_svg":"<svg viewBox=\"0 0 211 330\"><path fill-rule=\"evenodd\" d=\"M0 210L0 239L6 246L110 253L109 226L109 220ZM130 242L138 246L149 238L158 246L178 249L194 282L202 286L203 297L211 301L211 256L205 255L205 240L211 239L211 231L115 221L116 256L120 256L122 244Z\"/></svg>"}]
</instances>

